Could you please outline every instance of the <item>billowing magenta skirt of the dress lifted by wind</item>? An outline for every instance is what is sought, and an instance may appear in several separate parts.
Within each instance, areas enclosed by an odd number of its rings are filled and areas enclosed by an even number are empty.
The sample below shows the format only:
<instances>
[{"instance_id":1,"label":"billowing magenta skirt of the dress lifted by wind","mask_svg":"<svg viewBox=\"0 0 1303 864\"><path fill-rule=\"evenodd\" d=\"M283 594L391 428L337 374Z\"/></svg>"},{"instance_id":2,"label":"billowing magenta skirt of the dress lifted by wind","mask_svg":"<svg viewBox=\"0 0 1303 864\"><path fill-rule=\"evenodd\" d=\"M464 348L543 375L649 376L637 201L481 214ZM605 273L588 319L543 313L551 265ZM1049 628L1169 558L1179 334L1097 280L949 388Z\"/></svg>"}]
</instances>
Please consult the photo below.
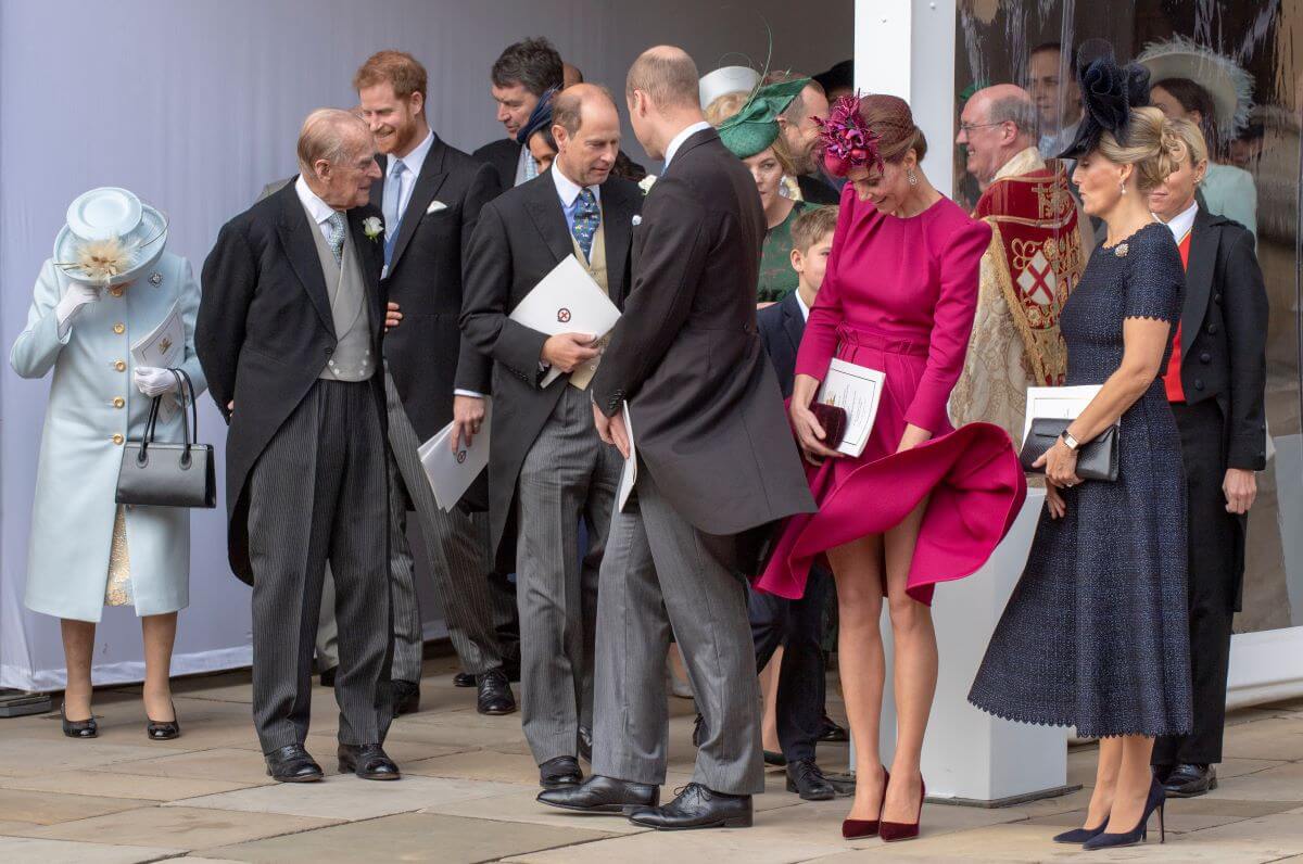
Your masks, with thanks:
<instances>
[{"instance_id":1,"label":"billowing magenta skirt of the dress lifted by wind","mask_svg":"<svg viewBox=\"0 0 1303 864\"><path fill-rule=\"evenodd\" d=\"M928 344L844 324L839 335L839 358L886 373L873 433L856 459L829 459L817 468L807 463L818 511L784 523L754 586L800 598L810 566L827 550L886 532L926 499L907 590L930 605L937 583L975 573L1012 526L1027 498L1018 452L999 426L946 424L928 442L898 454Z\"/></svg>"}]
</instances>

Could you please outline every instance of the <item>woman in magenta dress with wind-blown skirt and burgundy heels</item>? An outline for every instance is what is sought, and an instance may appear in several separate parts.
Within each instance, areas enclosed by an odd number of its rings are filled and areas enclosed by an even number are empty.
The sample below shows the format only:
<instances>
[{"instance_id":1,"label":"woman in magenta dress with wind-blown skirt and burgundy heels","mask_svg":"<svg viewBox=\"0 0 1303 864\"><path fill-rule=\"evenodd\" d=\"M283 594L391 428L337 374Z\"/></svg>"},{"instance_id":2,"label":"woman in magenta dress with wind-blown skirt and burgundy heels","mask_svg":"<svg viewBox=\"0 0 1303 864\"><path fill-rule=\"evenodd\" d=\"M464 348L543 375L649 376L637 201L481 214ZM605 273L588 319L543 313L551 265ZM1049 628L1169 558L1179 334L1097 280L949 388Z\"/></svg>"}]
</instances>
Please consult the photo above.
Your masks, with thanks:
<instances>
[{"instance_id":1,"label":"woman in magenta dress with wind-blown skirt and burgundy heels","mask_svg":"<svg viewBox=\"0 0 1303 864\"><path fill-rule=\"evenodd\" d=\"M923 734L937 684L936 583L979 569L1022 507L1027 486L1009 435L950 426L990 228L937 192L909 106L847 96L825 122L825 163L850 182L833 254L796 361L791 420L809 463L817 513L792 517L756 586L800 597L816 558L837 577L842 689L856 743L856 794L844 837L919 831ZM809 410L833 357L886 374L859 457L823 444ZM887 598L895 644L898 743L878 756L886 667L878 619Z\"/></svg>"}]
</instances>

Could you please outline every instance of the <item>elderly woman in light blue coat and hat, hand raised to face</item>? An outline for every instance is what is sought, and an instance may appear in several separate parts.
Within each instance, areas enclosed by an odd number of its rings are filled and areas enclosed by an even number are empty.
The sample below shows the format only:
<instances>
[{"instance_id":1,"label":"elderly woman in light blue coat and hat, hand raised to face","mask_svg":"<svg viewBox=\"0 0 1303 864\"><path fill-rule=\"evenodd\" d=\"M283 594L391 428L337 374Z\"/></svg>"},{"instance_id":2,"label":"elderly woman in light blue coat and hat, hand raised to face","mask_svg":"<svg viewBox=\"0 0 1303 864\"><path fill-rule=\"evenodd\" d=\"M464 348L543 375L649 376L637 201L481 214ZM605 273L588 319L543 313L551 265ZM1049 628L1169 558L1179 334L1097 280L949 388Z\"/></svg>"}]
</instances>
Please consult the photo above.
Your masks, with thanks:
<instances>
[{"instance_id":1,"label":"elderly woman in light blue coat and hat, hand raised to face","mask_svg":"<svg viewBox=\"0 0 1303 864\"><path fill-rule=\"evenodd\" d=\"M74 214L78 203L82 210ZM139 222L133 224L133 216ZM115 220L117 227L102 224ZM89 238L78 238L77 229ZM116 275L91 279L86 268L69 266L68 258L86 261L87 249L103 250L91 241L116 231L121 231L119 240L126 240L116 249L129 253L107 265ZM179 399L168 370L138 367L132 357L132 345L173 304L185 326L185 351L176 365L197 391L205 388L193 341L199 288L189 262L162 250L165 235L162 215L147 206L142 210L125 190L93 190L78 198L69 209L69 225L60 232L56 258L42 265L27 326L9 356L23 378L53 370L36 468L25 603L63 619L68 685L61 710L70 738L96 734L90 670L95 624L106 605L134 605L141 616L147 736L165 740L180 734L169 667L176 614L189 603L190 515L180 507L115 503L122 446L143 435L152 396ZM181 440L181 422L180 410L167 412L156 439Z\"/></svg>"}]
</instances>

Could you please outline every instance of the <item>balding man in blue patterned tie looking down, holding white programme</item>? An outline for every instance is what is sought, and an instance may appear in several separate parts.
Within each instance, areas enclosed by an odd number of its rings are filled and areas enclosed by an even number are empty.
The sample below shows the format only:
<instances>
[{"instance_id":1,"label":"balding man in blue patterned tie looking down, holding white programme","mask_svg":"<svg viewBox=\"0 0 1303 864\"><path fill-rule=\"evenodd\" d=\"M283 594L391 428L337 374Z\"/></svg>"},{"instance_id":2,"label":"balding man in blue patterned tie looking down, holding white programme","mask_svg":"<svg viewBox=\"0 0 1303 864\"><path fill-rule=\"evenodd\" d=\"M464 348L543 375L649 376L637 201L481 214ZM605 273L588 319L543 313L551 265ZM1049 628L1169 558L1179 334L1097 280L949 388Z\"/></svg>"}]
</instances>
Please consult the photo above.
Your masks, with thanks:
<instances>
[{"instance_id":1,"label":"balding man in blue patterned tie looking down, holding white programme","mask_svg":"<svg viewBox=\"0 0 1303 864\"><path fill-rule=\"evenodd\" d=\"M597 573L619 483L619 452L592 424L593 334L547 336L508 318L558 263L576 258L616 306L628 293L642 193L611 176L620 119L581 83L555 96L556 159L480 211L466 252L461 330L493 358L489 517L499 572L517 575L521 713L545 788L579 783L590 740ZM558 315L564 314L558 310ZM457 387L465 364L457 367ZM562 374L545 377L551 367ZM579 555L579 521L588 554Z\"/></svg>"}]
</instances>

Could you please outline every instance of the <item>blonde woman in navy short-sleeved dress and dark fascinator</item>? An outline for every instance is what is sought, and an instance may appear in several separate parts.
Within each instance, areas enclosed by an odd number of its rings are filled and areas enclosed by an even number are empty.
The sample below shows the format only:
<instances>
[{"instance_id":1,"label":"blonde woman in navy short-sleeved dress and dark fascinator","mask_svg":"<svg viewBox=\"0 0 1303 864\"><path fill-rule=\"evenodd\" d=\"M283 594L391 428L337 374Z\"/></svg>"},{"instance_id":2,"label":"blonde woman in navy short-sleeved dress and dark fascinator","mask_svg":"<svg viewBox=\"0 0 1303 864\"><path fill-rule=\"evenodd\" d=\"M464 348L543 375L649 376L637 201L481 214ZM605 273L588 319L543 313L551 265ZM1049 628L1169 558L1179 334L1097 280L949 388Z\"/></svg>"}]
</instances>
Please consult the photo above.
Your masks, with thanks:
<instances>
[{"instance_id":1,"label":"blonde woman in navy short-sleeved dress and dark fascinator","mask_svg":"<svg viewBox=\"0 0 1303 864\"><path fill-rule=\"evenodd\" d=\"M1061 323L1067 383L1102 387L1041 456L1045 513L969 693L992 714L1101 739L1085 825L1054 838L1087 848L1141 839L1164 798L1149 773L1154 736L1191 725L1186 481L1160 377L1184 272L1145 197L1175 167L1177 143L1157 108L1130 107L1145 104L1145 83L1104 60L1083 76L1096 125L1065 156L1108 238ZM1117 481L1081 482L1078 448L1119 420Z\"/></svg>"}]
</instances>

